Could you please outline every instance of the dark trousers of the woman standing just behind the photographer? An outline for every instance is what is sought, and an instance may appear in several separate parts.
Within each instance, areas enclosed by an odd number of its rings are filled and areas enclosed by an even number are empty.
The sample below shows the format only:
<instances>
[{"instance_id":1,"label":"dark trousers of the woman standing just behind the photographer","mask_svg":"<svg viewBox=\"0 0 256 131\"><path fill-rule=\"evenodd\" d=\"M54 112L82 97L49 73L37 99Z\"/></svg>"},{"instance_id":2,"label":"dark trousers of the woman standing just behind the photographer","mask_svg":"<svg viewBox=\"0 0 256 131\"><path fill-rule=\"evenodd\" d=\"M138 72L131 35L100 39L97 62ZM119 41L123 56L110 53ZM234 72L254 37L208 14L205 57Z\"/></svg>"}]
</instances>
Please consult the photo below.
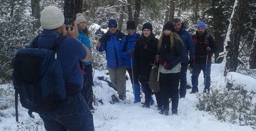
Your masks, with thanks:
<instances>
[{"instance_id":1,"label":"dark trousers of the woman standing just behind the photographer","mask_svg":"<svg viewBox=\"0 0 256 131\"><path fill-rule=\"evenodd\" d=\"M90 109L93 109L93 67L91 64L85 65L83 75L83 88L81 93L86 100L86 103Z\"/></svg>"}]
</instances>

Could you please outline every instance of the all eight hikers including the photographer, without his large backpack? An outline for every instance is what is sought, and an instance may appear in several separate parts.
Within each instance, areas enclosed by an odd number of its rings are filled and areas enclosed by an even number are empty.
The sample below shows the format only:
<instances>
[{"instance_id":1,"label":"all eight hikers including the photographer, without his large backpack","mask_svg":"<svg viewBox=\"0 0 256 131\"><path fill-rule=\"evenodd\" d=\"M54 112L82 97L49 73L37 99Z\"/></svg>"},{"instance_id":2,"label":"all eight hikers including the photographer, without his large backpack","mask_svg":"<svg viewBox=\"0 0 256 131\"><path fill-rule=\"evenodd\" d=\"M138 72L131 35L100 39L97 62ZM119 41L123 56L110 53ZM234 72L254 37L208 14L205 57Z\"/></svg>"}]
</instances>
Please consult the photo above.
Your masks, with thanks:
<instances>
[{"instance_id":1,"label":"all eight hikers including the photographer, without his large backpack","mask_svg":"<svg viewBox=\"0 0 256 131\"><path fill-rule=\"evenodd\" d=\"M56 51L63 75L69 76L65 80L67 95L54 111L39 112L45 129L93 131L93 68L87 20L82 14L77 14L73 29L66 30L61 10L49 6L41 12L40 21L44 30L37 39L38 46L48 46L60 35L69 36ZM216 46L212 36L207 34L204 22L197 24L196 34L191 36L180 19L173 19L163 25L159 39L155 38L150 23L143 24L142 34L136 32L132 20L127 22L127 35L117 30L114 19L109 19L108 28L99 39L96 49L106 53L110 80L120 100L126 99L125 74L128 72L135 96L134 103L141 101L141 85L145 94L142 107L150 108L154 103L152 95L155 94L159 113L169 115L171 98L172 114L178 115L178 101L186 95L188 65L192 69L191 93L198 92L201 70L205 78L203 92L210 93L211 57ZM152 64L159 66L160 92L156 93L151 91L148 84Z\"/></svg>"}]
</instances>

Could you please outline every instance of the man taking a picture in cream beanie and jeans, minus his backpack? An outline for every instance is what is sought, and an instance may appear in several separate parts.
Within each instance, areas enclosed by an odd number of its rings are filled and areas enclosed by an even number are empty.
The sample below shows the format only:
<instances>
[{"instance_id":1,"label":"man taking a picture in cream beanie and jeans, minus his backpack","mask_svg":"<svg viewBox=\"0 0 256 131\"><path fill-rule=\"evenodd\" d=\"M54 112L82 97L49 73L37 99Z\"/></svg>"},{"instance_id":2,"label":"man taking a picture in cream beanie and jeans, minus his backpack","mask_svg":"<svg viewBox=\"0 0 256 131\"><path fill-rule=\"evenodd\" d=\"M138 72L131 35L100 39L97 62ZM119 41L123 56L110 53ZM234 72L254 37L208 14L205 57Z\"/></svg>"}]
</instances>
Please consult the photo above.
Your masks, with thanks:
<instances>
[{"instance_id":1,"label":"man taking a picture in cream beanie and jeans, minus his backpack","mask_svg":"<svg viewBox=\"0 0 256 131\"><path fill-rule=\"evenodd\" d=\"M83 99L80 90L83 87L83 74L76 65L78 59L83 62L91 60L90 50L77 40L78 29L66 30L64 15L54 6L45 7L41 12L41 26L44 29L38 37L38 46L47 47L57 36L67 35L56 51L65 81L66 97L60 101L56 110L43 111L39 116L44 121L46 131L94 131L93 115Z\"/></svg>"}]
</instances>

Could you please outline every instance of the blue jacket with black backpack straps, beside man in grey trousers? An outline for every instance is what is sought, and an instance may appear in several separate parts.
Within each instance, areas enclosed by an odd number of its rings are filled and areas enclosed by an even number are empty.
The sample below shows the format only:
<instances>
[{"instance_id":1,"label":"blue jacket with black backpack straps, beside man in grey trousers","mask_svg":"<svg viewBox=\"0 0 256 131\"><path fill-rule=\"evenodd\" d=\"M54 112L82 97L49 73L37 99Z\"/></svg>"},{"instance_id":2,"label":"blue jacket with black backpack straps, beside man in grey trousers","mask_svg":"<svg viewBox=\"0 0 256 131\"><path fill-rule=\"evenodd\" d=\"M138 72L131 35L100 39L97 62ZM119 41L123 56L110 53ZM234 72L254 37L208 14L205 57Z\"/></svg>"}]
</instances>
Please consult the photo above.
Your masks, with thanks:
<instances>
[{"instance_id":1,"label":"blue jacket with black backpack straps, beside man in grey trousers","mask_svg":"<svg viewBox=\"0 0 256 131\"><path fill-rule=\"evenodd\" d=\"M133 35L128 35L128 43L127 43L126 50L131 50L131 49L134 50L135 43L136 43L136 35L137 35L136 32ZM140 36L141 35L139 34L139 38L140 38ZM126 41L126 36L124 36L124 38L122 39L120 50L123 49L125 41ZM124 61L125 67L126 68L132 68L131 58L128 57L127 52L123 52L122 51L122 55L121 56L125 59L125 61ZM132 64L133 64L133 60L134 60L134 53L132 54Z\"/></svg>"}]
</instances>

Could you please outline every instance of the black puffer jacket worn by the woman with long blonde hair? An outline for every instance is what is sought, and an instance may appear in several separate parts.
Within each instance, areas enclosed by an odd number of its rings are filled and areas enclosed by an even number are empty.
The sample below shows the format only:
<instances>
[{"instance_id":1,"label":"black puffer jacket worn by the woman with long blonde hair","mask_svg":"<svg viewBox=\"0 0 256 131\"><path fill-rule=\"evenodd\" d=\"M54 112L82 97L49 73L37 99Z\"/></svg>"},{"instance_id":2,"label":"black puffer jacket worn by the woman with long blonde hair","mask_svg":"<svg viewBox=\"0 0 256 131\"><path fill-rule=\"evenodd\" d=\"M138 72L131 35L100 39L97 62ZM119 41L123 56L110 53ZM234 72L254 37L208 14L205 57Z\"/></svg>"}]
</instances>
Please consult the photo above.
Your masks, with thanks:
<instances>
[{"instance_id":1,"label":"black puffer jacket worn by the woman with long blonde hair","mask_svg":"<svg viewBox=\"0 0 256 131\"><path fill-rule=\"evenodd\" d=\"M167 65L171 65L172 67L176 66L181 62L183 57L183 45L182 42L174 39L174 47L170 48L170 37L163 36L162 44L160 50L157 51L157 55L160 55Z\"/></svg>"}]
</instances>

